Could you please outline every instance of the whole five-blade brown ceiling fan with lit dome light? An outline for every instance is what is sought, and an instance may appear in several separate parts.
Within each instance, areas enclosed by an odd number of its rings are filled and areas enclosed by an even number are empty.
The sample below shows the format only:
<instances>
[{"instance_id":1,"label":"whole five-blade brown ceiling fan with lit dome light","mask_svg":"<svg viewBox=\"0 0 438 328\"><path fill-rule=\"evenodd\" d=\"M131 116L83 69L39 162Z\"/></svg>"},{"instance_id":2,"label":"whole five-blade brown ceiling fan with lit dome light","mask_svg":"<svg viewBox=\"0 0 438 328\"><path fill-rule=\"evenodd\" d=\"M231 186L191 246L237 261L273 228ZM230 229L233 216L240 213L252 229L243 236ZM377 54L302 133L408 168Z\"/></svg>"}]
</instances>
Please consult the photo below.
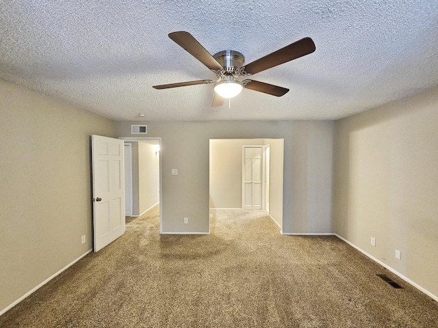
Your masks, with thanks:
<instances>
[{"instance_id":1,"label":"whole five-blade brown ceiling fan with lit dome light","mask_svg":"<svg viewBox=\"0 0 438 328\"><path fill-rule=\"evenodd\" d=\"M281 97L286 94L289 89L279 87L264 82L259 82L251 79L244 81L237 80L237 77L247 77L256 74L268 68L278 66L315 51L315 44L311 38L302 38L284 48L281 48L269 55L261 57L250 64L244 65L245 57L242 53L233 50L224 50L210 55L205 48L192 36L192 34L180 31L172 32L169 38L174 40L183 49L188 51L198 61L201 61L209 70L216 73L217 80L197 80L180 83L170 83L163 85L154 85L155 89L168 89L170 87L185 87L186 85L209 84L215 83L213 103L211 107L221 106L224 98L232 98L240 94L243 88L271 94L272 96Z\"/></svg>"}]
</instances>

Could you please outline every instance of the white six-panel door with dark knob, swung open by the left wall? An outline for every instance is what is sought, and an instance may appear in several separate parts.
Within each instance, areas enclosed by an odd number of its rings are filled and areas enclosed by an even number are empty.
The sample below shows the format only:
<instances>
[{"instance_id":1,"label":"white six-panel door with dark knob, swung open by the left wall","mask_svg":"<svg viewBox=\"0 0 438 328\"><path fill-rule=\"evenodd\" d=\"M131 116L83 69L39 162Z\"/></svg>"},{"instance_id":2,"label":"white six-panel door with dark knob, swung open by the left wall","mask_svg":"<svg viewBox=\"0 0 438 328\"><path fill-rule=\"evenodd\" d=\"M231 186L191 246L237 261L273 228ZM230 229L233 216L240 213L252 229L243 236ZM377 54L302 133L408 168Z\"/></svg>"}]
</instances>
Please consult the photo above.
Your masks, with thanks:
<instances>
[{"instance_id":1,"label":"white six-panel door with dark knob, swung open by the left wall","mask_svg":"<svg viewBox=\"0 0 438 328\"><path fill-rule=\"evenodd\" d=\"M125 233L123 140L92 135L94 251Z\"/></svg>"}]
</instances>

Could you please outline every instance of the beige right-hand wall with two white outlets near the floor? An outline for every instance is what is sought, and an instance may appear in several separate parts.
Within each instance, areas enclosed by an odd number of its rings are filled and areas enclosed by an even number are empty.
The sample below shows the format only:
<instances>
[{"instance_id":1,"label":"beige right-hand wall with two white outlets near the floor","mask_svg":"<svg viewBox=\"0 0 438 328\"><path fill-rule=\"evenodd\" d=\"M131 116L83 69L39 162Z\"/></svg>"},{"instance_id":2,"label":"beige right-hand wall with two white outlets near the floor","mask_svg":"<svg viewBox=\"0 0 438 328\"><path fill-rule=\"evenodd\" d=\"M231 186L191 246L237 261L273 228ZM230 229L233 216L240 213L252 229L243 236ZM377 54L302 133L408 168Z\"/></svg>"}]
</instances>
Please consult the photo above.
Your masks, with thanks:
<instances>
[{"instance_id":1,"label":"beige right-hand wall with two white outlets near the floor","mask_svg":"<svg viewBox=\"0 0 438 328\"><path fill-rule=\"evenodd\" d=\"M340 120L336 143L337 234L438 295L438 89Z\"/></svg>"}]
</instances>

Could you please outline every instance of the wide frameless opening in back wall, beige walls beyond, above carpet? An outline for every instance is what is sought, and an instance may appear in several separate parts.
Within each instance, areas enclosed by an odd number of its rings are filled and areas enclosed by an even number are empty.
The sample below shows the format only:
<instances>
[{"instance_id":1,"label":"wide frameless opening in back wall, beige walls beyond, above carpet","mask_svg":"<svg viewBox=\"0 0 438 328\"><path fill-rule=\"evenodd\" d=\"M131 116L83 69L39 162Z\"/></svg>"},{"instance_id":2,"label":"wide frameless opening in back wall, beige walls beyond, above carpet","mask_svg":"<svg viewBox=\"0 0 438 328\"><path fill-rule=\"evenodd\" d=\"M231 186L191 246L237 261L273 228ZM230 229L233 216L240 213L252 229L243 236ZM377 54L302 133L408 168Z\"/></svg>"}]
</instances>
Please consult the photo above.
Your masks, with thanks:
<instances>
[{"instance_id":1,"label":"wide frameless opening in back wall, beige walls beyond, above carpet","mask_svg":"<svg viewBox=\"0 0 438 328\"><path fill-rule=\"evenodd\" d=\"M274 222L283 227L284 139L210 139L209 208L245 208L245 147L261 148L248 163L258 163L261 188L260 206ZM260 150L259 148L259 150ZM250 152L248 152L249 154ZM250 182L248 183L250 185ZM248 192L253 189L248 187Z\"/></svg>"}]
</instances>

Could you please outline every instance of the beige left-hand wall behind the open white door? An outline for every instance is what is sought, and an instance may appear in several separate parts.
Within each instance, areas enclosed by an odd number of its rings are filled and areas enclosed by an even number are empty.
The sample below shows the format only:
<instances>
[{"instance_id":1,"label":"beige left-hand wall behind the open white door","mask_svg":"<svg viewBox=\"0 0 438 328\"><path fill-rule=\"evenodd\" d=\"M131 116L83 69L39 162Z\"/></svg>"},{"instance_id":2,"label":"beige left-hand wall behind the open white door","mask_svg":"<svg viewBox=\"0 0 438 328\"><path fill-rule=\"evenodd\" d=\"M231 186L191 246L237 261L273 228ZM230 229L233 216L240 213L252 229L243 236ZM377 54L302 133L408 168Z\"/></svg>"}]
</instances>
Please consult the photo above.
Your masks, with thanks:
<instances>
[{"instance_id":1,"label":"beige left-hand wall behind the open white door","mask_svg":"<svg viewBox=\"0 0 438 328\"><path fill-rule=\"evenodd\" d=\"M0 99L1 311L92 248L90 135L116 134L110 120L3 80Z\"/></svg>"}]
</instances>

